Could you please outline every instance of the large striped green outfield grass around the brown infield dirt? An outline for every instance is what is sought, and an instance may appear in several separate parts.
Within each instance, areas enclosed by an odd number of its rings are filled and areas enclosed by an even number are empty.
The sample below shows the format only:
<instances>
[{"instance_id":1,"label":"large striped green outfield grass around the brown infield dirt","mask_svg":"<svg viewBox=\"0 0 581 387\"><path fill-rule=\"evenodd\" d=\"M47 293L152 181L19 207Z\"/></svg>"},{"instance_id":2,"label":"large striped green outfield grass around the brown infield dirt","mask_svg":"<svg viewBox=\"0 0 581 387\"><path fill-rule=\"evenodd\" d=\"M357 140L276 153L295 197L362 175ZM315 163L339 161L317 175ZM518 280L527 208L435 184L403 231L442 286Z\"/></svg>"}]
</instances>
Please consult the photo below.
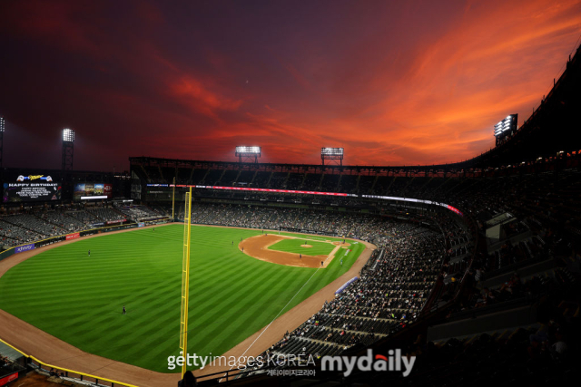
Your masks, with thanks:
<instances>
[{"instance_id":1,"label":"large striped green outfield grass around the brown infield dirt","mask_svg":"<svg viewBox=\"0 0 581 387\"><path fill-rule=\"evenodd\" d=\"M189 353L225 353L269 324L317 270L242 254L241 238L259 234L192 227ZM171 225L55 247L0 278L0 308L86 352L176 372L167 357L179 353L182 236L183 226ZM338 255L319 269L284 312L345 273L364 246L351 248L348 256L340 250L342 266Z\"/></svg>"}]
</instances>

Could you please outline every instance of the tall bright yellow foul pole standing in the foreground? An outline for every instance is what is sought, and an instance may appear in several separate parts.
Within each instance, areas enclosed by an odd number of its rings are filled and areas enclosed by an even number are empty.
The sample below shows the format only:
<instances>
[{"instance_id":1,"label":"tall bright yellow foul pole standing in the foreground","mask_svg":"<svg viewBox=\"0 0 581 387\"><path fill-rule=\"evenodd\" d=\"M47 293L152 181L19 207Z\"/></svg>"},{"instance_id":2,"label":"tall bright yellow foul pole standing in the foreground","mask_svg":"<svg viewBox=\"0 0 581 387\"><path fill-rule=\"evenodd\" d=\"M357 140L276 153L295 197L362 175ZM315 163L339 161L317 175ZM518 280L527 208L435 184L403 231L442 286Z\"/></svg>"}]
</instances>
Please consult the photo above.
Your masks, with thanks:
<instances>
[{"instance_id":1,"label":"tall bright yellow foul pole standing in the foreground","mask_svg":"<svg viewBox=\"0 0 581 387\"><path fill-rule=\"evenodd\" d=\"M182 356L188 353L188 304L190 301L190 236L192 230L192 187L185 194L185 211L183 216L183 260L182 260L182 317L180 319L180 349ZM186 362L182 365L182 377L186 371Z\"/></svg>"}]
</instances>

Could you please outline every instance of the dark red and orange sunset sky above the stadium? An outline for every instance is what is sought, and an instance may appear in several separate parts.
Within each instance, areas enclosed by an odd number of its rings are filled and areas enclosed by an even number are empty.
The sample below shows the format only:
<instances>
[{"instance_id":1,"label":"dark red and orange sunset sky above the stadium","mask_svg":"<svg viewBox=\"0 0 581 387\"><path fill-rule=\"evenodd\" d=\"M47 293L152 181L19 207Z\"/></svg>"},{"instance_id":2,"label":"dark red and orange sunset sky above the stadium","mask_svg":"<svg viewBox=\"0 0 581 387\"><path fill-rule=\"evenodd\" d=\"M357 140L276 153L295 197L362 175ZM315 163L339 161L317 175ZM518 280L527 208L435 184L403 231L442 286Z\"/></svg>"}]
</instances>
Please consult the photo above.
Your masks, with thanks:
<instances>
[{"instance_id":1,"label":"dark red and orange sunset sky above the stadium","mask_svg":"<svg viewBox=\"0 0 581 387\"><path fill-rule=\"evenodd\" d=\"M6 167L128 169L130 156L453 162L494 146L562 72L581 1L0 3Z\"/></svg>"}]
</instances>

